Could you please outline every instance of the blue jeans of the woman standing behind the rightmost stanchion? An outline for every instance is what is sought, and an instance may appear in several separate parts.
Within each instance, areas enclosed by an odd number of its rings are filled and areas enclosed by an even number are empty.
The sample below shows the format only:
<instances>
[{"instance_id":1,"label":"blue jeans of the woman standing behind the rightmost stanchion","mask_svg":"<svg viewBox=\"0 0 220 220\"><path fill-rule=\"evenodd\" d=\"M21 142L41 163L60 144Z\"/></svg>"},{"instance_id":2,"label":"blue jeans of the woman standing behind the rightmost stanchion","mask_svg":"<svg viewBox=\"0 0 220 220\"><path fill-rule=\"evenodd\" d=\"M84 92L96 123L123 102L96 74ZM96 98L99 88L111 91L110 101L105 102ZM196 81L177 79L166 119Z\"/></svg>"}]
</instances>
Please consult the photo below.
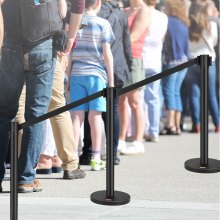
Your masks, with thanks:
<instances>
[{"instance_id":1,"label":"blue jeans of the woman standing behind the rightmost stanchion","mask_svg":"<svg viewBox=\"0 0 220 220\"><path fill-rule=\"evenodd\" d=\"M189 101L193 124L200 124L200 67L194 65L187 74ZM220 113L216 94L216 65L212 62L209 67L208 83L209 111L215 126L220 124Z\"/></svg>"}]
</instances>

